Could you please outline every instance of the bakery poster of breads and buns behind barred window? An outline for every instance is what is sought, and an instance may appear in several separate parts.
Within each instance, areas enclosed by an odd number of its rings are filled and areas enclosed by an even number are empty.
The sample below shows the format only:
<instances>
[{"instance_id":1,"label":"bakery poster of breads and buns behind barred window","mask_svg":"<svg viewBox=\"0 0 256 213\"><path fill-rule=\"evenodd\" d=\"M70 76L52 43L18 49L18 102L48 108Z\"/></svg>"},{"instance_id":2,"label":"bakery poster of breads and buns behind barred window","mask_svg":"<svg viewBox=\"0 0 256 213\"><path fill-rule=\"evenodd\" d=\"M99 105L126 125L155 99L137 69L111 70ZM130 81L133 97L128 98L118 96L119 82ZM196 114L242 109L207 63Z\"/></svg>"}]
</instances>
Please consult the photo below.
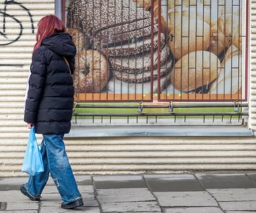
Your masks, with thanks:
<instances>
[{"instance_id":1,"label":"bakery poster of breads and buns behind barred window","mask_svg":"<svg viewBox=\"0 0 256 213\"><path fill-rule=\"evenodd\" d=\"M79 101L247 99L247 0L66 0Z\"/></svg>"}]
</instances>

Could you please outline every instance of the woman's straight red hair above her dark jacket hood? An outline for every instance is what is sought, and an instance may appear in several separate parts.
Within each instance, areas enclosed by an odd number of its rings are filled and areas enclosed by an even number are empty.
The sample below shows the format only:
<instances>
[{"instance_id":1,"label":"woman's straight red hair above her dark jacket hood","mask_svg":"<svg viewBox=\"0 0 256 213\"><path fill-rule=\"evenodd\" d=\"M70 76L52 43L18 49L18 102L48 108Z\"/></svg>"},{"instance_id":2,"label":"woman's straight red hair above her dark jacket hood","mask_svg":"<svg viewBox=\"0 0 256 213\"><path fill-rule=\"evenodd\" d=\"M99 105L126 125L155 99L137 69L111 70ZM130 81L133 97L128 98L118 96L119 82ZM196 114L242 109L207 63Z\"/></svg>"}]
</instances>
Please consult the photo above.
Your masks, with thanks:
<instances>
[{"instance_id":1,"label":"woman's straight red hair above her dark jacket hood","mask_svg":"<svg viewBox=\"0 0 256 213\"><path fill-rule=\"evenodd\" d=\"M46 15L38 22L38 29L36 34L36 44L34 45L34 51L36 51L42 43L42 40L46 36L58 32L65 32L65 26L56 15ZM34 52L33 51L33 52Z\"/></svg>"}]
</instances>

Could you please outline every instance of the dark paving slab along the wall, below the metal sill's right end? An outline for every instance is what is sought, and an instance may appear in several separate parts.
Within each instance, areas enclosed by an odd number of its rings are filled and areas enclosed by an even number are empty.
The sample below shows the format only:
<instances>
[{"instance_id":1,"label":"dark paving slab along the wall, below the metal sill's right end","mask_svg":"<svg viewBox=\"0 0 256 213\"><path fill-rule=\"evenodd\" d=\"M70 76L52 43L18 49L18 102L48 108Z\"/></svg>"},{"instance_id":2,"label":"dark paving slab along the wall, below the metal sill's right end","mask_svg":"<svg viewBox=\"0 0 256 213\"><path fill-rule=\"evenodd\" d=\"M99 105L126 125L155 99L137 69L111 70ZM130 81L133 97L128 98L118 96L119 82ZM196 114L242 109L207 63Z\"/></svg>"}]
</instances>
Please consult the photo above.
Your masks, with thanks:
<instances>
[{"instance_id":1,"label":"dark paving slab along the wall, below the metal sill's right end","mask_svg":"<svg viewBox=\"0 0 256 213\"><path fill-rule=\"evenodd\" d=\"M196 174L206 189L256 188L245 174Z\"/></svg>"}]
</instances>

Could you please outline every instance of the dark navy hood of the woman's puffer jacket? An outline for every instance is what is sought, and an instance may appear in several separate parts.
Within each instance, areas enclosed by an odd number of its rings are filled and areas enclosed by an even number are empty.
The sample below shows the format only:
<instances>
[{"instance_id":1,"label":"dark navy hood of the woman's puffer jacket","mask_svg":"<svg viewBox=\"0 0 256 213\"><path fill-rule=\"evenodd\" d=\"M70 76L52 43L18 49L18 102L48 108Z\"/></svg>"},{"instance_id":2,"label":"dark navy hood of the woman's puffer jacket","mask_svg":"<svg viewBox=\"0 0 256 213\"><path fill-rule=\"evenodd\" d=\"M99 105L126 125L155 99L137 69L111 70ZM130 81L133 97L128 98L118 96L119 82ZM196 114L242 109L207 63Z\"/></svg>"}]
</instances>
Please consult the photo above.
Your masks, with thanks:
<instances>
[{"instance_id":1,"label":"dark navy hood of the woman's puffer jacket","mask_svg":"<svg viewBox=\"0 0 256 213\"><path fill-rule=\"evenodd\" d=\"M72 37L65 32L46 36L42 40L42 45L61 56L74 57L76 54Z\"/></svg>"}]
</instances>

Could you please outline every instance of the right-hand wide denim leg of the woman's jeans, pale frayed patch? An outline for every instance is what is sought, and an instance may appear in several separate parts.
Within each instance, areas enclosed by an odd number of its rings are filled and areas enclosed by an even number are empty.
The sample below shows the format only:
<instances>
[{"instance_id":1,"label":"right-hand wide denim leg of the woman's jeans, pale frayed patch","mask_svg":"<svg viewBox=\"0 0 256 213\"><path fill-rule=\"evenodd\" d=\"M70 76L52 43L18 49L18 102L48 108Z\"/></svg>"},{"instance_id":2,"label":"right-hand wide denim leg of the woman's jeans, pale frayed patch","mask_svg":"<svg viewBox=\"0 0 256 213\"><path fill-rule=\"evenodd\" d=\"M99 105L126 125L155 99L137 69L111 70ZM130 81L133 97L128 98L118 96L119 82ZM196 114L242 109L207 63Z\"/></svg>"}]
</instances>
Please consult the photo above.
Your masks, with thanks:
<instances>
[{"instance_id":1,"label":"right-hand wide denim leg of the woman's jeans, pale frayed patch","mask_svg":"<svg viewBox=\"0 0 256 213\"><path fill-rule=\"evenodd\" d=\"M44 134L51 177L61 199L68 204L82 198L65 151L64 134Z\"/></svg>"}]
</instances>

